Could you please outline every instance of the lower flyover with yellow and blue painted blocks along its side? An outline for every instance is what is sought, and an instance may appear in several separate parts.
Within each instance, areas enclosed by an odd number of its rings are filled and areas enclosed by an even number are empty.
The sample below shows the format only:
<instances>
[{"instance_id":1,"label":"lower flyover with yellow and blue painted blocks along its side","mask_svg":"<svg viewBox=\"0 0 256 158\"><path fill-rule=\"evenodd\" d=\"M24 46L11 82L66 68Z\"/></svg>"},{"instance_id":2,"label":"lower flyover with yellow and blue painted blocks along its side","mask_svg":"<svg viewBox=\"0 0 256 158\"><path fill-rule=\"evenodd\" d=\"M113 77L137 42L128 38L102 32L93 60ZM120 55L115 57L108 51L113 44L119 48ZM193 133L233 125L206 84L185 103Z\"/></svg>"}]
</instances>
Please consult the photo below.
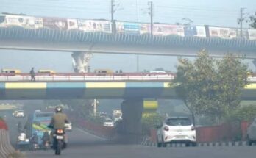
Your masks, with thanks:
<instances>
[{"instance_id":1,"label":"lower flyover with yellow and blue painted blocks along its side","mask_svg":"<svg viewBox=\"0 0 256 158\"><path fill-rule=\"evenodd\" d=\"M0 76L0 99L76 99L76 98L178 98L172 83L174 73L163 76L147 76L141 73L124 73L123 76L93 76L85 74L74 76ZM256 100L255 77L244 87L243 100Z\"/></svg>"}]
</instances>

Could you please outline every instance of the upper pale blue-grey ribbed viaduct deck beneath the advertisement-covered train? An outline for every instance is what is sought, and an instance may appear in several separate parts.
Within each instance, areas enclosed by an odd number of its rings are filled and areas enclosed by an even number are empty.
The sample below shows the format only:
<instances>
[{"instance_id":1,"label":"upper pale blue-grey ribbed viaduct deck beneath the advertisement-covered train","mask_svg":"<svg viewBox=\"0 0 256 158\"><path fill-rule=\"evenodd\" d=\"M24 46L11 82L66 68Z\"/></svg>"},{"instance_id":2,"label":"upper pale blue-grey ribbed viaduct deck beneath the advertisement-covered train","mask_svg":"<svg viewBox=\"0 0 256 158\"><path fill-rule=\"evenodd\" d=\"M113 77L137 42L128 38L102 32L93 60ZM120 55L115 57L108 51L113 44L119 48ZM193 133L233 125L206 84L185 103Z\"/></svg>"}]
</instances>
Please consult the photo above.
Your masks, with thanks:
<instances>
[{"instance_id":1,"label":"upper pale blue-grey ribbed viaduct deck beneath the advertisement-covered train","mask_svg":"<svg viewBox=\"0 0 256 158\"><path fill-rule=\"evenodd\" d=\"M200 49L207 49L216 57L234 52L255 58L256 41L0 27L0 49L175 56L196 56Z\"/></svg>"}]
</instances>

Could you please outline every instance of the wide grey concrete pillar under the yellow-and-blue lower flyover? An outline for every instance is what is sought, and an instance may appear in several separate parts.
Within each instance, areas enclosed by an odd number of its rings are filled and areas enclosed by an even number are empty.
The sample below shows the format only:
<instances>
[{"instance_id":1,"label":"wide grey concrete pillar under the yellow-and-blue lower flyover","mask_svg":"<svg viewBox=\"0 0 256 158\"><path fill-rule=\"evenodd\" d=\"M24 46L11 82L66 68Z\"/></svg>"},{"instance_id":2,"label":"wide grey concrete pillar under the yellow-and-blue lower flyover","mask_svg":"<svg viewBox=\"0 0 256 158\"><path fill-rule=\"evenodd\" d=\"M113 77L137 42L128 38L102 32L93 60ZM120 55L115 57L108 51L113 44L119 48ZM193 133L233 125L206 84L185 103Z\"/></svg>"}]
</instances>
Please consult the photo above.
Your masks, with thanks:
<instances>
[{"instance_id":1,"label":"wide grey concrete pillar under the yellow-and-blue lower flyover","mask_svg":"<svg viewBox=\"0 0 256 158\"><path fill-rule=\"evenodd\" d=\"M125 134L141 134L141 116L143 99L127 99L121 104L123 113L123 132Z\"/></svg>"}]
</instances>

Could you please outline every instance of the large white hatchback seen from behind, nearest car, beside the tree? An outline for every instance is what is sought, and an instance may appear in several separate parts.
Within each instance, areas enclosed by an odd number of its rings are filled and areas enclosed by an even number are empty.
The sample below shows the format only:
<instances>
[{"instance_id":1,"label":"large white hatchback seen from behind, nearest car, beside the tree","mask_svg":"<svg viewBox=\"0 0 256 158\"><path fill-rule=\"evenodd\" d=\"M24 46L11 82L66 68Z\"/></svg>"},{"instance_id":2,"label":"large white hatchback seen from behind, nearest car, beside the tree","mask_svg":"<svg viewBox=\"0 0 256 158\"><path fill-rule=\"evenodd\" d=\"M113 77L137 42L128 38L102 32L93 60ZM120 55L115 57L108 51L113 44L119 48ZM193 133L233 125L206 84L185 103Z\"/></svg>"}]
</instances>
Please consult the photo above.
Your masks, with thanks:
<instances>
[{"instance_id":1,"label":"large white hatchback seen from behind, nearest car, beside the tree","mask_svg":"<svg viewBox=\"0 0 256 158\"><path fill-rule=\"evenodd\" d=\"M185 143L196 146L196 129L189 118L167 118L157 129L157 147L166 147L167 143Z\"/></svg>"}]
</instances>

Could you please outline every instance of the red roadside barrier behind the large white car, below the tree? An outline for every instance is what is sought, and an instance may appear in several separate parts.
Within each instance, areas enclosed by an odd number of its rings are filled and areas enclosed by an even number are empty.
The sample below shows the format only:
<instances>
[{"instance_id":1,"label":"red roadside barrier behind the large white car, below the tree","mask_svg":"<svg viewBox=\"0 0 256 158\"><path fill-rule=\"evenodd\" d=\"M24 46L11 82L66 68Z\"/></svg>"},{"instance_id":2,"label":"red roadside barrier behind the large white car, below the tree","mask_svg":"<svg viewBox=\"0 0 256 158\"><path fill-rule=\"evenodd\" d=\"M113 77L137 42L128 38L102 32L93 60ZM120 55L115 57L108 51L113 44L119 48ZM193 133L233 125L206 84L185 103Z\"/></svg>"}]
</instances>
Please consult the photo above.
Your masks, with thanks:
<instances>
[{"instance_id":1,"label":"red roadside barrier behind the large white car, below the tree","mask_svg":"<svg viewBox=\"0 0 256 158\"><path fill-rule=\"evenodd\" d=\"M249 122L225 123L220 126L202 126L196 128L198 143L226 143L246 140ZM152 129L147 141L157 143L157 130Z\"/></svg>"}]
</instances>

